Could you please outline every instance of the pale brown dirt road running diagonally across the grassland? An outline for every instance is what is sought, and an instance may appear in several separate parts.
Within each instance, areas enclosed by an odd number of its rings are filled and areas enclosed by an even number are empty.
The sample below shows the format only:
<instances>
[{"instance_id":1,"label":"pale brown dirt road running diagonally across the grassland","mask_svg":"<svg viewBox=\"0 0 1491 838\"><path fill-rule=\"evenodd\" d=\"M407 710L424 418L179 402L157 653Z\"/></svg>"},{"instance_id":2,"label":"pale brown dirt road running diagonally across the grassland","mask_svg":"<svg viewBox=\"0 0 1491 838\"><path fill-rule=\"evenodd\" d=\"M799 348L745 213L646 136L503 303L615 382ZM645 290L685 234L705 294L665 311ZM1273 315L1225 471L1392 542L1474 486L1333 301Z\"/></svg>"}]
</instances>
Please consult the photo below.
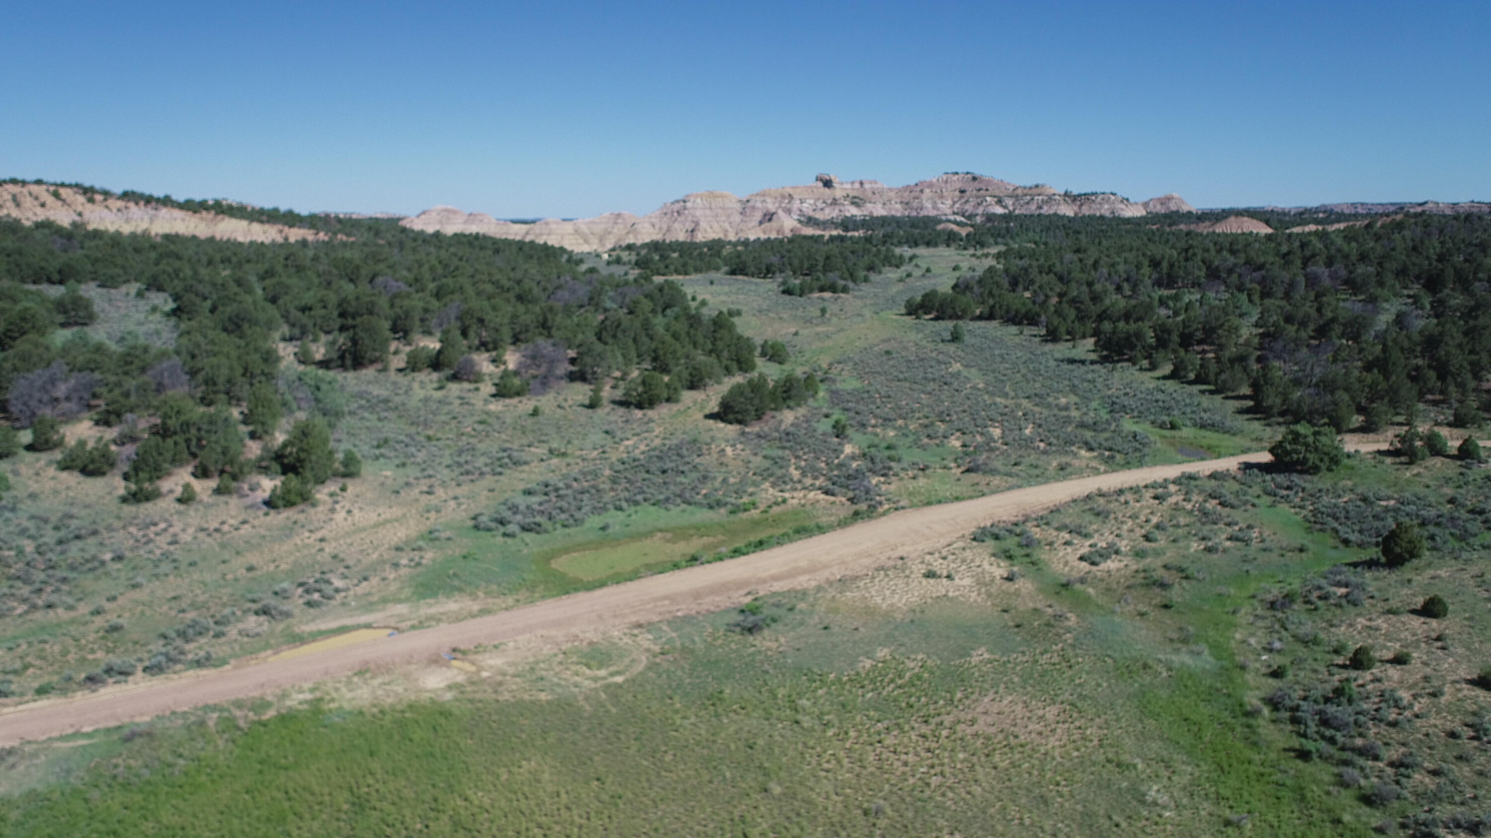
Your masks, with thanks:
<instances>
[{"instance_id":1,"label":"pale brown dirt road running diagonally across the grassland","mask_svg":"<svg viewBox=\"0 0 1491 838\"><path fill-rule=\"evenodd\" d=\"M1243 462L1269 459L1267 453L1249 453L1176 465L1151 465L1012 489L969 501L901 510L760 553L571 593L485 617L340 649L236 664L221 670L197 670L163 678L142 678L137 683L104 687L94 693L22 704L0 711L0 746L265 695L359 670L429 664L438 661L443 652L458 647L531 635L564 640L683 614L717 611L760 593L813 587L865 573L895 561L896 556L942 547L986 523L1021 519L1093 492L1138 486L1184 473L1232 470Z\"/></svg>"}]
</instances>

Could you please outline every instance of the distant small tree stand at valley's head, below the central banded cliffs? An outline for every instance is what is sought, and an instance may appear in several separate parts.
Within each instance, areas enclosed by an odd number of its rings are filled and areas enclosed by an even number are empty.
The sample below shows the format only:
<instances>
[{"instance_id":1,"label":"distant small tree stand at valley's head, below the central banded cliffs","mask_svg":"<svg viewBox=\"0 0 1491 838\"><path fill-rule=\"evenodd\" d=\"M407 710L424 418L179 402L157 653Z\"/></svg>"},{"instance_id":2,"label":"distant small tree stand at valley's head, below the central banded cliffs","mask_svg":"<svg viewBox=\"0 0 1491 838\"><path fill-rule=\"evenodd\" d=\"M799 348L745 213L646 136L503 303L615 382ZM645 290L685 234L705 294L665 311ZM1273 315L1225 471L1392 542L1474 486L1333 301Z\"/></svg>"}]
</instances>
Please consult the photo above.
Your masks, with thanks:
<instances>
[{"instance_id":1,"label":"distant small tree stand at valley's head, below the central banded cliffs","mask_svg":"<svg viewBox=\"0 0 1491 838\"><path fill-rule=\"evenodd\" d=\"M723 271L781 280L784 294L847 294L869 274L907 264L890 245L863 236L792 236L748 242L646 242L619 248L644 276Z\"/></svg>"}]
</instances>

